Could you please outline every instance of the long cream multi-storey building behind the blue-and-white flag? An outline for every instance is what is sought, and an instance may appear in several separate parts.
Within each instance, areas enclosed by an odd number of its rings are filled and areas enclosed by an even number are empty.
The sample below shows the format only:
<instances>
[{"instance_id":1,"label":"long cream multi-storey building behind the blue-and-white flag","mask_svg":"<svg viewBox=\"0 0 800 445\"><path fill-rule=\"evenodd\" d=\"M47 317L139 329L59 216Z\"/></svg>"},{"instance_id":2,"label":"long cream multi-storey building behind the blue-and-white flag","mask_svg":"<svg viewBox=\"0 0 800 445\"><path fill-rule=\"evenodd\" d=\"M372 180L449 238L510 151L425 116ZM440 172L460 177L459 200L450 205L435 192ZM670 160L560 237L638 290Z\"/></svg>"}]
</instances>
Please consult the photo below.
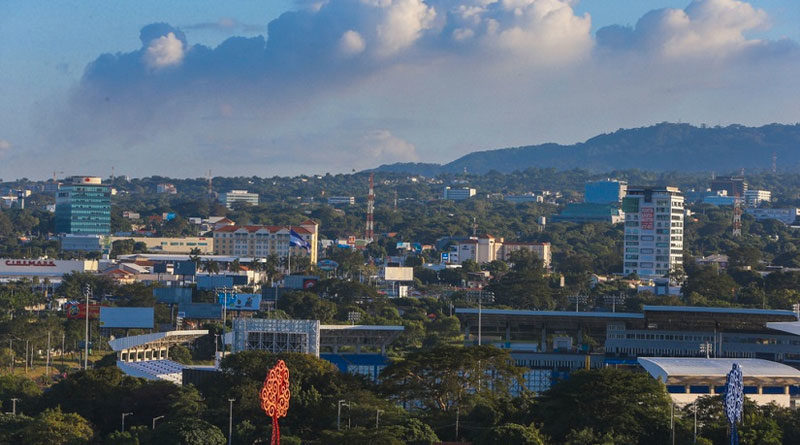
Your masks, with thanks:
<instances>
[{"instance_id":1,"label":"long cream multi-storey building behind the blue-and-white flag","mask_svg":"<svg viewBox=\"0 0 800 445\"><path fill-rule=\"evenodd\" d=\"M317 263L319 224L307 220L296 226L222 226L214 229L214 252L217 255L265 258L276 254L280 258L289 255L289 233L296 232L311 248L292 246L292 258L310 257Z\"/></svg>"}]
</instances>

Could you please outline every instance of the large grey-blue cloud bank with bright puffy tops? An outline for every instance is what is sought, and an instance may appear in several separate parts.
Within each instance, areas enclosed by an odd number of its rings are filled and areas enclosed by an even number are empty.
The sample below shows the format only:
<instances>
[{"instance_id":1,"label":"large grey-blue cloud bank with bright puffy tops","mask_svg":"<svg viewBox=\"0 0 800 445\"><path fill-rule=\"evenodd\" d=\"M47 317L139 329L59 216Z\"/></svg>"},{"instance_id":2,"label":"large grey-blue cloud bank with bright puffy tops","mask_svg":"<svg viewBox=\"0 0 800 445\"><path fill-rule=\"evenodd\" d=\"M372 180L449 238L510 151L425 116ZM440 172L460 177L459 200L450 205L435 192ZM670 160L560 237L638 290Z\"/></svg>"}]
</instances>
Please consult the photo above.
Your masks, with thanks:
<instances>
[{"instance_id":1,"label":"large grey-blue cloud bank with bright puffy tops","mask_svg":"<svg viewBox=\"0 0 800 445\"><path fill-rule=\"evenodd\" d=\"M764 11L693 0L595 38L574 3L327 0L284 13L268 37L215 48L148 25L141 48L86 68L59 137L145 155L168 145L199 171L223 152L231 169L266 174L441 161L660 120L800 117L797 44L749 37L769 26ZM774 94L747 91L762 87Z\"/></svg>"}]
</instances>

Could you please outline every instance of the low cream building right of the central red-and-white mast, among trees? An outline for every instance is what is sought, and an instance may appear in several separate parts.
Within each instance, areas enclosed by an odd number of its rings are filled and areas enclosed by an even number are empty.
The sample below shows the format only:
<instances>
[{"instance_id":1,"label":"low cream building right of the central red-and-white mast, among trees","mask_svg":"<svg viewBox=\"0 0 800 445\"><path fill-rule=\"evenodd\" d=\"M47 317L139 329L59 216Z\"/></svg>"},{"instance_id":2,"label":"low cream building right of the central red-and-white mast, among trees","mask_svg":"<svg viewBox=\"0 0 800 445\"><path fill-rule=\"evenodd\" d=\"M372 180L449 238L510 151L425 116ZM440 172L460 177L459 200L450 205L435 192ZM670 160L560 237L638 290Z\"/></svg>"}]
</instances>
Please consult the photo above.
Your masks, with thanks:
<instances>
[{"instance_id":1,"label":"low cream building right of the central red-and-white mast, among trees","mask_svg":"<svg viewBox=\"0 0 800 445\"><path fill-rule=\"evenodd\" d=\"M503 238L491 235L457 241L450 252L449 262L461 264L466 260L472 260L483 264L494 260L509 261L512 252L523 249L536 254L544 263L544 267L550 267L552 259L550 243L505 242Z\"/></svg>"}]
</instances>

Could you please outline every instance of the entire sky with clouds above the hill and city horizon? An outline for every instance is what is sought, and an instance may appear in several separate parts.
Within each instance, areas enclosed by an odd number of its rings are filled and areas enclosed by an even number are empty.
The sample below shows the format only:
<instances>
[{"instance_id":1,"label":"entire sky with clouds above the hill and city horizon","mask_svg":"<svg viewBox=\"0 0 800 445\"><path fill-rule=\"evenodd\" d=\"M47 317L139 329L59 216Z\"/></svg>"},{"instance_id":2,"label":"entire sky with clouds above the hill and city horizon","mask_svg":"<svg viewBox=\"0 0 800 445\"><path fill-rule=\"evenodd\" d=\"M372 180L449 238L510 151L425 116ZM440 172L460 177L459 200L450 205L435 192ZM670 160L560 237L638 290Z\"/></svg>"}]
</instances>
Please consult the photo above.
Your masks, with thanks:
<instances>
[{"instance_id":1,"label":"entire sky with clouds above the hill and city horizon","mask_svg":"<svg viewBox=\"0 0 800 445\"><path fill-rule=\"evenodd\" d=\"M0 178L336 173L794 123L798 41L794 0L6 0Z\"/></svg>"}]
</instances>

